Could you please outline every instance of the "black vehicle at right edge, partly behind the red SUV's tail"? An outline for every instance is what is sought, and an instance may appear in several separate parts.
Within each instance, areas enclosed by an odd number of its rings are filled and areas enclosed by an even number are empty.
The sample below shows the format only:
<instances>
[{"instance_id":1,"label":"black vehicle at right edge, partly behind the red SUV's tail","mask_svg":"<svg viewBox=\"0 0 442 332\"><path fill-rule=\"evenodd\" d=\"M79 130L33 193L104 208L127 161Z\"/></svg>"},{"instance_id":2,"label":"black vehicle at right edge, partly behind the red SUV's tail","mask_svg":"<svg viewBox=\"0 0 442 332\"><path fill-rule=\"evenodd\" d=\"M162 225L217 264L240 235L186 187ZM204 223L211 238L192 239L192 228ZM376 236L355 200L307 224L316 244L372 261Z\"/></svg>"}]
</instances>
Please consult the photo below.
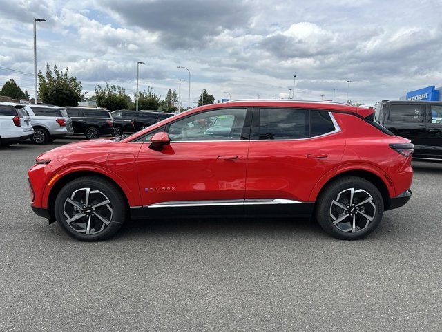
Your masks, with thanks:
<instances>
[{"instance_id":1,"label":"black vehicle at right edge, partly behind the red SUV's tail","mask_svg":"<svg viewBox=\"0 0 442 332\"><path fill-rule=\"evenodd\" d=\"M442 102L386 101L374 110L376 122L412 140L414 159L442 161Z\"/></svg>"}]
</instances>

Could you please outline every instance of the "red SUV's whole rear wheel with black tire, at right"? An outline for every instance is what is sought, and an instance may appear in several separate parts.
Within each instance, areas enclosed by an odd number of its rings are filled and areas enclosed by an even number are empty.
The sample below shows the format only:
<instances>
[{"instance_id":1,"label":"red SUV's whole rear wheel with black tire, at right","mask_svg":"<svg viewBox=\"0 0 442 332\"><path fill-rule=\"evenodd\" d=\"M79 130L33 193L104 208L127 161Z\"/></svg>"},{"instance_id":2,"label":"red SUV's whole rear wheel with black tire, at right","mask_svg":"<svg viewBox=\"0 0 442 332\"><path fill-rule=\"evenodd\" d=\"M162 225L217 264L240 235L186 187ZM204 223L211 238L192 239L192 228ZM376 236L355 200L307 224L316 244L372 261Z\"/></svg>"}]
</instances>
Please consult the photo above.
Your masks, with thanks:
<instances>
[{"instance_id":1,"label":"red SUV's whole rear wheel with black tire, at right","mask_svg":"<svg viewBox=\"0 0 442 332\"><path fill-rule=\"evenodd\" d=\"M350 205L352 188L353 204ZM371 201L367 201L369 199ZM363 201L367 203L361 205ZM317 202L316 219L319 225L332 237L343 240L362 239L373 232L384 212L381 192L373 183L357 176L345 176L329 183Z\"/></svg>"}]
</instances>

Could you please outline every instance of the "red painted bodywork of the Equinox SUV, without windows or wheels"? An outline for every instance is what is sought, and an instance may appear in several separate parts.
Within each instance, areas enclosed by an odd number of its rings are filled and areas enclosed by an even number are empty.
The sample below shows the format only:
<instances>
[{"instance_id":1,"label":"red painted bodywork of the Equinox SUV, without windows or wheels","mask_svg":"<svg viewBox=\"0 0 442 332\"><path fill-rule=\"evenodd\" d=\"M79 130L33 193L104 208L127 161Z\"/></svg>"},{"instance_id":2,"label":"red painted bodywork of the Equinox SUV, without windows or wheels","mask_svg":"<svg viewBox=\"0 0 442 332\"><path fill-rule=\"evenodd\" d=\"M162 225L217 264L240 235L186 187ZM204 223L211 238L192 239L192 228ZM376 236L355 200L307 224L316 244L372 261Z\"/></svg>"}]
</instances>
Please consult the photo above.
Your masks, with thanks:
<instances>
[{"instance_id":1,"label":"red painted bodywork of the Equinox SUV, without windows or wheels","mask_svg":"<svg viewBox=\"0 0 442 332\"><path fill-rule=\"evenodd\" d=\"M135 142L156 128L193 113L224 107L296 107L332 111L340 131L302 140L170 142L151 149ZM93 172L111 178L130 206L168 201L291 199L316 201L334 176L365 171L378 176L390 197L410 188L410 157L389 144L410 142L389 136L362 117L373 110L344 104L291 101L242 101L186 111L120 142L88 140L64 145L37 157L28 175L37 208L47 208L51 190L64 176ZM166 134L160 133L161 142Z\"/></svg>"}]
</instances>

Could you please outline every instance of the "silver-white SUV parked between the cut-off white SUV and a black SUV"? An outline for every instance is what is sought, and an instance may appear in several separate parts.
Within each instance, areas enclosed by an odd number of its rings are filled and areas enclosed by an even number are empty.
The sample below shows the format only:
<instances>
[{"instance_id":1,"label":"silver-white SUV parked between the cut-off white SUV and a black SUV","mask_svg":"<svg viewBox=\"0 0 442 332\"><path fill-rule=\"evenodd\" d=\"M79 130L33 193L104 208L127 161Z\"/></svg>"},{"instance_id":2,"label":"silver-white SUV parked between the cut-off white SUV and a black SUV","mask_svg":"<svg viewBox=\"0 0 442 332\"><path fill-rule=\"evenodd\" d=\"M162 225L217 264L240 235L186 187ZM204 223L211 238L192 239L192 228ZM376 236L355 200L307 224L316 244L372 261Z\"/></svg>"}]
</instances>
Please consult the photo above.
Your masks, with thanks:
<instances>
[{"instance_id":1,"label":"silver-white SUV parked between the cut-off white SUV and a black SUV","mask_svg":"<svg viewBox=\"0 0 442 332\"><path fill-rule=\"evenodd\" d=\"M52 142L55 138L72 135L72 120L64 107L42 104L27 104L34 134L30 138L35 144Z\"/></svg>"}]
</instances>

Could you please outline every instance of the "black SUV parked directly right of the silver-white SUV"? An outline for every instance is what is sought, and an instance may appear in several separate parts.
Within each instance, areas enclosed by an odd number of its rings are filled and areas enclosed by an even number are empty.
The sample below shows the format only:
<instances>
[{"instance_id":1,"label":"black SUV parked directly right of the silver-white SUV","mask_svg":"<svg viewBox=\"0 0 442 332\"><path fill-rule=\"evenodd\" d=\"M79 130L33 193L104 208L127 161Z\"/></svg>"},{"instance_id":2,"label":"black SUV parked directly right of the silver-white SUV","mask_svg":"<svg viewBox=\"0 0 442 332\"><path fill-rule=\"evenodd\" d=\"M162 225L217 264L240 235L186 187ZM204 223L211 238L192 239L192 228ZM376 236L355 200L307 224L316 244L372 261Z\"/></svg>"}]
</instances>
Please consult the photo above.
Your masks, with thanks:
<instances>
[{"instance_id":1,"label":"black SUV parked directly right of the silver-white SUV","mask_svg":"<svg viewBox=\"0 0 442 332\"><path fill-rule=\"evenodd\" d=\"M113 118L109 111L87 107L67 107L66 111L75 133L84 133L89 140L100 135L113 135Z\"/></svg>"}]
</instances>

